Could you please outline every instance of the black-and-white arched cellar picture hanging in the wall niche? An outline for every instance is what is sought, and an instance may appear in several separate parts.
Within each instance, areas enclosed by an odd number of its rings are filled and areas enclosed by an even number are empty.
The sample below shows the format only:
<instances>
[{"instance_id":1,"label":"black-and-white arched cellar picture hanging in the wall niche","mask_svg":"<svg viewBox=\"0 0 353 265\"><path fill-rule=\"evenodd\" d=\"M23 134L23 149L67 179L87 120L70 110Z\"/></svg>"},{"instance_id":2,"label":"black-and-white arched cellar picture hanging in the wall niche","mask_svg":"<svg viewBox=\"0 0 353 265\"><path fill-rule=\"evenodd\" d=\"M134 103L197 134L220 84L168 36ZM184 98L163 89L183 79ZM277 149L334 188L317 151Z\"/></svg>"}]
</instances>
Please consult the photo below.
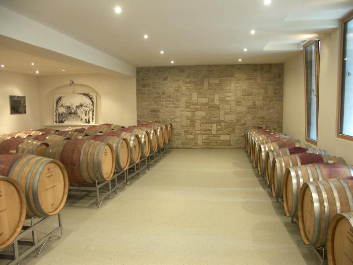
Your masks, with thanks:
<instances>
[{"instance_id":1,"label":"black-and-white arched cellar picture hanging in the wall niche","mask_svg":"<svg viewBox=\"0 0 353 265\"><path fill-rule=\"evenodd\" d=\"M54 124L96 123L96 94L54 94Z\"/></svg>"}]
</instances>

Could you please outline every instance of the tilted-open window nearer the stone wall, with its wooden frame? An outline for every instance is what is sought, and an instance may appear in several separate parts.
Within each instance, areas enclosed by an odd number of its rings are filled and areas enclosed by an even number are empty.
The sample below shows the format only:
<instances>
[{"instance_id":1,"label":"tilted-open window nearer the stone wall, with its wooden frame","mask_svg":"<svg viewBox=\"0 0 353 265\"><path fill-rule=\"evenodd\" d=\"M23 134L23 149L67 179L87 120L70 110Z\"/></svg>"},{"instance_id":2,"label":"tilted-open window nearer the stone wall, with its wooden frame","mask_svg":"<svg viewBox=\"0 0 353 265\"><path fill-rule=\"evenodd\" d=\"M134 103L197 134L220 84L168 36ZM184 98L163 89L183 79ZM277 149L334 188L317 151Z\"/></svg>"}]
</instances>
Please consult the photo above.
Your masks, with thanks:
<instances>
[{"instance_id":1,"label":"tilted-open window nearer the stone wall, with its wooden frame","mask_svg":"<svg viewBox=\"0 0 353 265\"><path fill-rule=\"evenodd\" d=\"M306 139L317 143L319 111L319 41L309 41L304 45L304 73L306 100Z\"/></svg>"}]
</instances>

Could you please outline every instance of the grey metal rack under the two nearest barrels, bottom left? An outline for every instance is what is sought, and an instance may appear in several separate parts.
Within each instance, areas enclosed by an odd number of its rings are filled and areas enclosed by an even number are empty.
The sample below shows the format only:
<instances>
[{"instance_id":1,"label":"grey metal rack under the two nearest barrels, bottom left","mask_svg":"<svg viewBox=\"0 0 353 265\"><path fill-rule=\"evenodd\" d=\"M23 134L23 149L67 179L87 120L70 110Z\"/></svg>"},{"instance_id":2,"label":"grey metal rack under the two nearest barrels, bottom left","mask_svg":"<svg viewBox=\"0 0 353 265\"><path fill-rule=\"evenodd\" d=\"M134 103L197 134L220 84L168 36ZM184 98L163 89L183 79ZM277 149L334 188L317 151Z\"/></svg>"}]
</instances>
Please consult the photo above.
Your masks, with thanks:
<instances>
[{"instance_id":1,"label":"grey metal rack under the two nearest barrels, bottom left","mask_svg":"<svg viewBox=\"0 0 353 265\"><path fill-rule=\"evenodd\" d=\"M50 232L46 232L45 236L38 236L39 229L43 226L43 223L47 219L57 218L57 226ZM39 220L39 221L38 221ZM35 256L38 256L46 242L54 235L54 233L60 231L61 238L63 236L63 223L61 213L46 218L32 218L26 220L25 223L30 223L22 227L22 231L12 244L4 249L0 249L0 261L9 261L9 264L18 264L22 259L30 255L32 252ZM40 231L42 233L42 231ZM29 239L30 238L30 239Z\"/></svg>"}]
</instances>

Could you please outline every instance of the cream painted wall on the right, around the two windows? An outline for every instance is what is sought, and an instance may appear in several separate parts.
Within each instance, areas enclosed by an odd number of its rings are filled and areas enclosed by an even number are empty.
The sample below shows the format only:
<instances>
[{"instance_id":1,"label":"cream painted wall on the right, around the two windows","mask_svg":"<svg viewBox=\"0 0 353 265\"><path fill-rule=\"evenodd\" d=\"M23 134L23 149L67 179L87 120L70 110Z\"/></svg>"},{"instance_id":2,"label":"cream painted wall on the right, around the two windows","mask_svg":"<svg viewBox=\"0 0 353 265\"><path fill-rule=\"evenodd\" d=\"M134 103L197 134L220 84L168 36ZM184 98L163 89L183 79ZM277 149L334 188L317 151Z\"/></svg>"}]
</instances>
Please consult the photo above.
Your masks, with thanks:
<instances>
[{"instance_id":1,"label":"cream painted wall on the right, around the two windows","mask_svg":"<svg viewBox=\"0 0 353 265\"><path fill-rule=\"evenodd\" d=\"M340 32L321 39L318 146L353 165L353 142L336 137ZM305 139L305 88L303 54L284 64L283 132Z\"/></svg>"}]
</instances>

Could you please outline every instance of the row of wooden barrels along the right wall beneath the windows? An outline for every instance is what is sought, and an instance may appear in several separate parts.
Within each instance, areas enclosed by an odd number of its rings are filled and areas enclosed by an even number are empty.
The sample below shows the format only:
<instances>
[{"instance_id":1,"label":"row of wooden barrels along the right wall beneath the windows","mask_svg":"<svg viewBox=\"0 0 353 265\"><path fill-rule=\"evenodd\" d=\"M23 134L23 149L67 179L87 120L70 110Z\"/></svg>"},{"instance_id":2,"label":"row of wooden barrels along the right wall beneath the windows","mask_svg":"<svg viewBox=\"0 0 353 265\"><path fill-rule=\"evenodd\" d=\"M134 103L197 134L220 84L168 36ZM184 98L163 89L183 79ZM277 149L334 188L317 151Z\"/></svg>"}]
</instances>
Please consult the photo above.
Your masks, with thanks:
<instances>
[{"instance_id":1,"label":"row of wooden barrels along the right wall beneath the windows","mask_svg":"<svg viewBox=\"0 0 353 265\"><path fill-rule=\"evenodd\" d=\"M353 167L342 157L270 127L245 130L245 148L303 242L327 249L329 264L353 264Z\"/></svg>"}]
</instances>

